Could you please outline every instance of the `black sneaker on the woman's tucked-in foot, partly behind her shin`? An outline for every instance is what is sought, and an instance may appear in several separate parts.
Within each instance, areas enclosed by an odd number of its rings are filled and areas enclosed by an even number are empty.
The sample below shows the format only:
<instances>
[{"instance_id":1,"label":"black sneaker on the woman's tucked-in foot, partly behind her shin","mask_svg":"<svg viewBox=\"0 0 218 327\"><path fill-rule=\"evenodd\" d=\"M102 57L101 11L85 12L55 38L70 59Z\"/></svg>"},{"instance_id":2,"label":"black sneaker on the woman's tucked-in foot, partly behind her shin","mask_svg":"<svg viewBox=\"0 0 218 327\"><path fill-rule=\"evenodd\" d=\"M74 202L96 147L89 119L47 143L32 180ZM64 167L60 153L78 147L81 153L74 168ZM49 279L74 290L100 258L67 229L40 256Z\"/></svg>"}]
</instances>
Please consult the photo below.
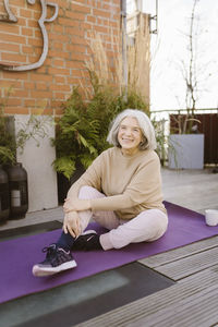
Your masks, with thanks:
<instances>
[{"instance_id":1,"label":"black sneaker on the woman's tucked-in foot, partly behind her shin","mask_svg":"<svg viewBox=\"0 0 218 327\"><path fill-rule=\"evenodd\" d=\"M77 239L75 239L72 250L75 251L92 251L92 250L102 250L99 242L99 235L95 230L87 230L82 233Z\"/></svg>"}]
</instances>

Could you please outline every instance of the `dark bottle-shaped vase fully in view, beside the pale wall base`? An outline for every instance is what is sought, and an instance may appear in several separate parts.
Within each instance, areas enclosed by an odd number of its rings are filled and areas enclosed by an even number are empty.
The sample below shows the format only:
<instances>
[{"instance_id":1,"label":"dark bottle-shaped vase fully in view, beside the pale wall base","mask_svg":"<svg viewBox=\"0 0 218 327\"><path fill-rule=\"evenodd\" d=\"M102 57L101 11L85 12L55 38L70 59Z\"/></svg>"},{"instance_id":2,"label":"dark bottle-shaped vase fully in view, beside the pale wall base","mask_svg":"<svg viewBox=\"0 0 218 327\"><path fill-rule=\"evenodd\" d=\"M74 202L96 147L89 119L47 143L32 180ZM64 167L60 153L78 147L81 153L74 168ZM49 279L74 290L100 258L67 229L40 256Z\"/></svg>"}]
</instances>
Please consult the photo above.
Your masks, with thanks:
<instances>
[{"instance_id":1,"label":"dark bottle-shaped vase fully in view, beside the pale wall base","mask_svg":"<svg viewBox=\"0 0 218 327\"><path fill-rule=\"evenodd\" d=\"M28 210L27 172L17 162L7 169L9 175L10 219L24 218Z\"/></svg>"}]
</instances>

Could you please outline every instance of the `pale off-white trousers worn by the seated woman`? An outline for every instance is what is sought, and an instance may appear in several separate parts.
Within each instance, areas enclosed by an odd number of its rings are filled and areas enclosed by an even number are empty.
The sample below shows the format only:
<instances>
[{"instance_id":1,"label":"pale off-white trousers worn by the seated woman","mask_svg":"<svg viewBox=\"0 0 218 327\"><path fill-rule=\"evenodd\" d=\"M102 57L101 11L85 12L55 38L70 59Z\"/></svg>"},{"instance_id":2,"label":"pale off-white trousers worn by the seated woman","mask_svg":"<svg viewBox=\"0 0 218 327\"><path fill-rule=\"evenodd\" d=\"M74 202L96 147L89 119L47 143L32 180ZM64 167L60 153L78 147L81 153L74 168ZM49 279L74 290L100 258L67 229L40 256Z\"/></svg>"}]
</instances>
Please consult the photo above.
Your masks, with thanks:
<instances>
[{"instance_id":1,"label":"pale off-white trousers worn by the seated woman","mask_svg":"<svg viewBox=\"0 0 218 327\"><path fill-rule=\"evenodd\" d=\"M82 186L78 198L90 199L106 196L92 186ZM120 249L130 243L152 242L159 239L167 230L168 217L159 209L142 211L131 220L121 220L113 211L78 213L81 230L87 227L93 218L109 231L100 235L100 244L104 250Z\"/></svg>"}]
</instances>

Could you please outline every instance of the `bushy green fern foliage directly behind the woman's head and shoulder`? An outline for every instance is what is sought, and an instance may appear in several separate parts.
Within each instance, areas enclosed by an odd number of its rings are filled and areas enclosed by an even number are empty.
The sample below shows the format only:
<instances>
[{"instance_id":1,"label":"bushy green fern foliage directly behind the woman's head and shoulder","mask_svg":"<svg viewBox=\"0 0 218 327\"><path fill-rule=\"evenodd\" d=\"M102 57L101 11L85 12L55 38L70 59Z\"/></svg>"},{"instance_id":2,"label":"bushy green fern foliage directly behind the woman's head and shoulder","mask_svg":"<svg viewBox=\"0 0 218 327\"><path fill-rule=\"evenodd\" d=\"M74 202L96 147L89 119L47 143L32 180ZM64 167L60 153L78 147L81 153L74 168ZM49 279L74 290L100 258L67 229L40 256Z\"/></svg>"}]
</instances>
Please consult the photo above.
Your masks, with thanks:
<instances>
[{"instance_id":1,"label":"bushy green fern foliage directly behind the woman's head and shoulder","mask_svg":"<svg viewBox=\"0 0 218 327\"><path fill-rule=\"evenodd\" d=\"M63 116L57 123L53 140L57 159L53 167L68 179L81 164L86 169L109 147L106 141L109 125L119 112L126 108L147 111L147 105L140 96L133 93L128 97L119 95L114 88L100 85L95 75L90 75L90 78L94 90L90 100L85 101L78 89L74 88L64 104Z\"/></svg>"}]
</instances>

